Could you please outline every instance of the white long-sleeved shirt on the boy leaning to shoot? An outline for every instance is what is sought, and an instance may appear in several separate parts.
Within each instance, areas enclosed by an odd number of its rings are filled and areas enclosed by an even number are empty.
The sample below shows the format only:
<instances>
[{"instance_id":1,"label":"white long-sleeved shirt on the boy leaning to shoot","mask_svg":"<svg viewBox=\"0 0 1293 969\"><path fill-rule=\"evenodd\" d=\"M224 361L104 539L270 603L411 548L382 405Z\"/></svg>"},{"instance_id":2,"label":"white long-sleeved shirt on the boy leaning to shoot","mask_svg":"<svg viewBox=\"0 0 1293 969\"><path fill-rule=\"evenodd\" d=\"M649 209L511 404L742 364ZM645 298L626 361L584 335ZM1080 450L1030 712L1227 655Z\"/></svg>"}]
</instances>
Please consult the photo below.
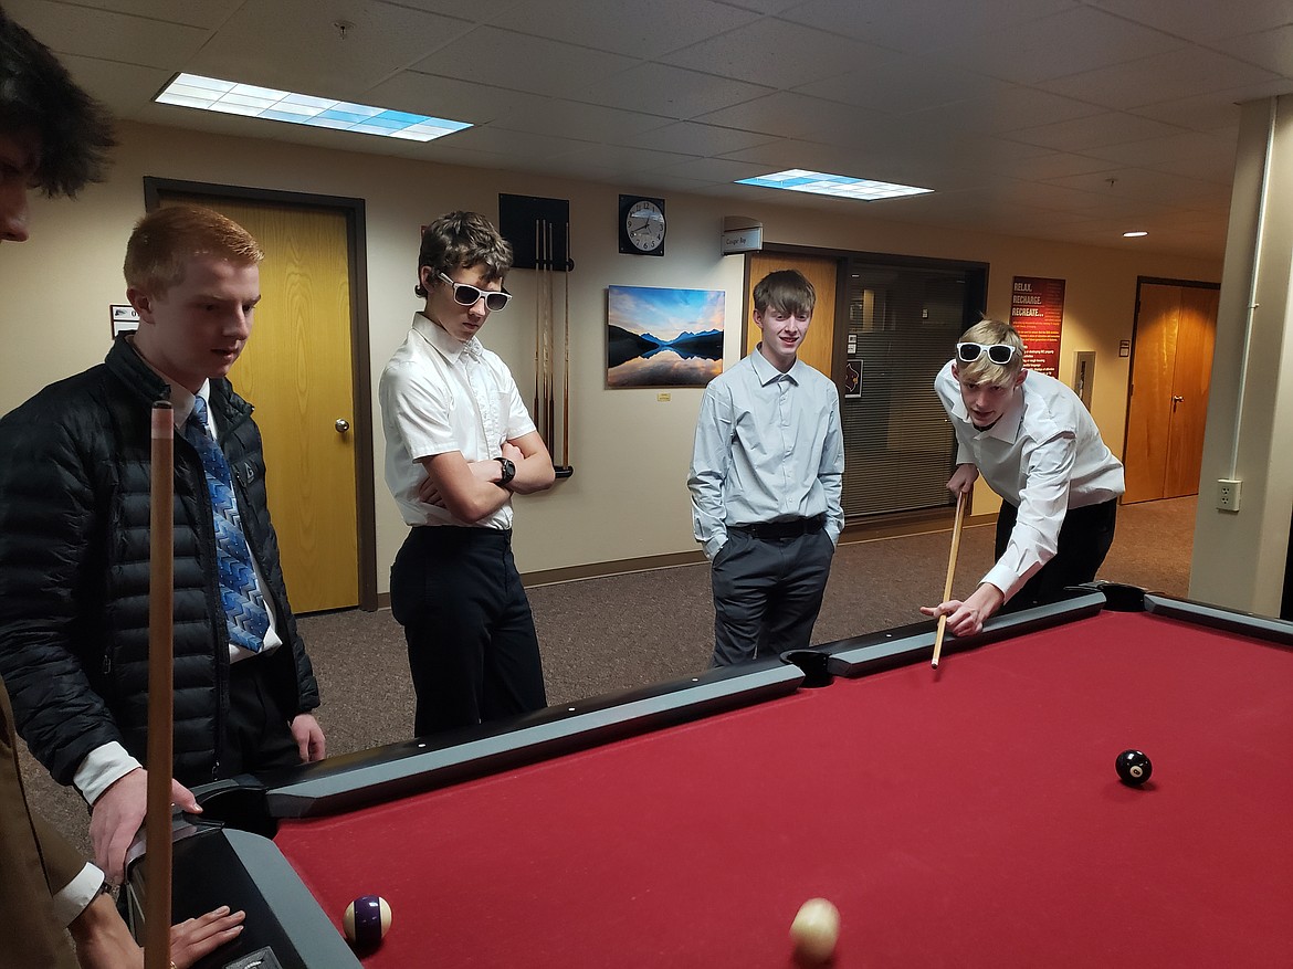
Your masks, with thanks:
<instances>
[{"instance_id":1,"label":"white long-sleeved shirt on the boy leaning to shoot","mask_svg":"<svg viewBox=\"0 0 1293 969\"><path fill-rule=\"evenodd\" d=\"M1086 508L1125 491L1122 464L1068 386L1027 371L1001 419L987 430L970 420L948 363L935 389L957 434L957 464L972 464L988 486L1019 509L1006 553L983 578L1009 599L1058 549L1069 508Z\"/></svg>"}]
</instances>

